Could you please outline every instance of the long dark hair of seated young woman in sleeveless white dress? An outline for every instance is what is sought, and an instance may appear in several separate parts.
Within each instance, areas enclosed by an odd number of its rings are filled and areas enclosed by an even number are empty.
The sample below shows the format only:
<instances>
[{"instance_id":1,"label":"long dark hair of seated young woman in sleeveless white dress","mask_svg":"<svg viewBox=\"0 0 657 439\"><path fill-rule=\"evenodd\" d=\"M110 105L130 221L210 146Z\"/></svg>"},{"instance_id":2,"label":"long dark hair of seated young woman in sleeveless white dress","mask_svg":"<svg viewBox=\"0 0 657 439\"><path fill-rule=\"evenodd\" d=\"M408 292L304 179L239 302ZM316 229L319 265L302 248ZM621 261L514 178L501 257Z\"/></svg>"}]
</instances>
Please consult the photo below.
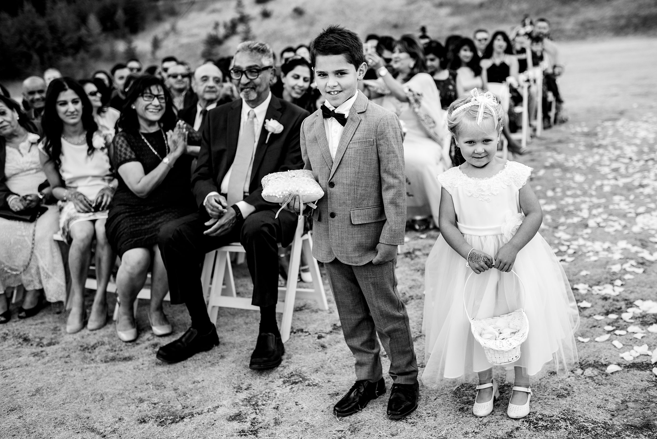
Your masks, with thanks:
<instances>
[{"instance_id":1,"label":"long dark hair of seated young woman in sleeveless white dress","mask_svg":"<svg viewBox=\"0 0 657 439\"><path fill-rule=\"evenodd\" d=\"M91 143L91 139L93 139L93 133L97 131L98 125L93 120L93 107L87 93L76 80L67 76L57 78L48 85L48 90L45 93L43 117L41 118L41 127L45 138L43 149L49 160L55 162L57 167L62 164L60 157L62 155L62 131L64 129L64 122L57 114L57 100L59 94L66 90L74 91L82 103L82 127L87 131L87 155L92 156L96 150Z\"/></svg>"}]
</instances>

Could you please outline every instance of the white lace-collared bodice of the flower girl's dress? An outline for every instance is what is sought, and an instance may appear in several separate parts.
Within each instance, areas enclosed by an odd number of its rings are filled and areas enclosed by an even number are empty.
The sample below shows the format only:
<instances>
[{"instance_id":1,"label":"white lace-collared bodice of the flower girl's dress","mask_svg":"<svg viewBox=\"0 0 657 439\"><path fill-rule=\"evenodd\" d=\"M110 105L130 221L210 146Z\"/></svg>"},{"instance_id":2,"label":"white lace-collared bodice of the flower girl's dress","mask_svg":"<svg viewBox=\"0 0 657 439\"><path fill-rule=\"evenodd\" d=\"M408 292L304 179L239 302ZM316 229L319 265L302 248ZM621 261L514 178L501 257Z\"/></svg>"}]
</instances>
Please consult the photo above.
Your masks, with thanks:
<instances>
[{"instance_id":1,"label":"white lace-collared bodice of the flower girl's dress","mask_svg":"<svg viewBox=\"0 0 657 439\"><path fill-rule=\"evenodd\" d=\"M522 222L519 191L532 168L507 161L503 170L489 178L472 178L458 166L438 175L438 181L452 196L461 233L502 235Z\"/></svg>"}]
</instances>

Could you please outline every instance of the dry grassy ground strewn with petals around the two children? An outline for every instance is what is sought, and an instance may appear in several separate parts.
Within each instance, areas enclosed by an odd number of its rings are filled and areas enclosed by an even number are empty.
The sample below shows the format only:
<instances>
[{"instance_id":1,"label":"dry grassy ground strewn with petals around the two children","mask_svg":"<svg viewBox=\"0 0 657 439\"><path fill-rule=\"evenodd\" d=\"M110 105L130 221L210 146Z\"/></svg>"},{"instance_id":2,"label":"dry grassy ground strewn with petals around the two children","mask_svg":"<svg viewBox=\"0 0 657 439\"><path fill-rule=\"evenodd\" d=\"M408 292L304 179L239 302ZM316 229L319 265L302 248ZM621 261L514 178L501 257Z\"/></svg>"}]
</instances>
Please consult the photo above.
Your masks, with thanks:
<instances>
[{"instance_id":1,"label":"dry grassy ground strewn with petals around the two children","mask_svg":"<svg viewBox=\"0 0 657 439\"><path fill-rule=\"evenodd\" d=\"M64 315L49 308L26 321L13 319L0 327L0 437L654 438L657 386L650 358L625 361L618 355L644 343L657 348L657 334L648 332L638 340L629 333L595 342L606 333L605 325L620 330L630 324L592 316L620 315L636 308L635 300L657 300L656 266L644 251L657 250L656 43L564 44L568 63L561 86L572 120L546 131L530 146L533 153L520 159L534 168L532 185L543 200L541 234L564 259L571 285L589 285L585 294L576 292L578 302L591 303L581 308L578 336L591 340L578 342L579 368L566 379L548 376L538 382L530 416L520 421L506 417L510 386L504 384L493 414L474 418L474 386L465 384L422 387L420 407L405 421L386 419L385 396L357 415L336 419L332 405L354 377L329 293L329 312L297 304L284 362L265 373L248 369L258 325L254 312L220 310L221 345L177 365L160 363L155 352L189 325L183 306L166 305L175 334L157 338L148 330L147 303L141 301L141 334L133 344L120 342L112 325L66 335ZM397 275L423 366L424 261L437 233L407 236ZM643 268L643 273L622 267L611 271L630 260L637 265L626 267ZM248 291L246 267L238 267L236 276L238 290ZM617 279L624 289L618 295L591 290ZM110 306L114 300L110 294ZM633 319L645 330L657 315L641 313ZM616 339L625 345L620 350L611 344ZM622 371L606 373L610 363Z\"/></svg>"}]
</instances>

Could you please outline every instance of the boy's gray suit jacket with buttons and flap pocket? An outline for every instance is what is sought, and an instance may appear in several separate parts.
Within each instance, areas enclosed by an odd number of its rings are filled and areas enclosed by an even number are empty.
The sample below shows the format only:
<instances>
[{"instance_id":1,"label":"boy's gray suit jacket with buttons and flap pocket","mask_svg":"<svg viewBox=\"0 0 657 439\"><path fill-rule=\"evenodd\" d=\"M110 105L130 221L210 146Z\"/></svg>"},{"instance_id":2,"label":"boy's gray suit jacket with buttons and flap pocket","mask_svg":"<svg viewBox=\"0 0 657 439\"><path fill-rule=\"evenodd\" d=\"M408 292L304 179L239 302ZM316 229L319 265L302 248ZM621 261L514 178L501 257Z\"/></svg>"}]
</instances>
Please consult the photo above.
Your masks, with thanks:
<instances>
[{"instance_id":1,"label":"boy's gray suit jacket with buttons and flap pocket","mask_svg":"<svg viewBox=\"0 0 657 439\"><path fill-rule=\"evenodd\" d=\"M321 110L301 127L304 169L325 195L313 212L313 256L352 266L376 256L376 244L401 245L406 225L403 136L397 115L358 93L331 158Z\"/></svg>"}]
</instances>

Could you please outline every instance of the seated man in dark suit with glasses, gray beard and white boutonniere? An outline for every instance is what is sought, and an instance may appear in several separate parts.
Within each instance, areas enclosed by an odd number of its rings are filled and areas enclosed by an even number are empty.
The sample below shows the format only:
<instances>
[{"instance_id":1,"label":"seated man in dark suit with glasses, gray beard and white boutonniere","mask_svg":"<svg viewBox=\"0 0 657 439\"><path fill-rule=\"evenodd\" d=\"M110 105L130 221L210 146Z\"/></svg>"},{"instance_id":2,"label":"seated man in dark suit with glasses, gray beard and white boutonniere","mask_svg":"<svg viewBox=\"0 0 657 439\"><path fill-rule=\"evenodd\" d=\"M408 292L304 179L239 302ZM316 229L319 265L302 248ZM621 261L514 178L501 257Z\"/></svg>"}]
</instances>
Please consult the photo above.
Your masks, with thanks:
<instances>
[{"instance_id":1,"label":"seated man in dark suit with glasses, gray beard and white boutonniere","mask_svg":"<svg viewBox=\"0 0 657 439\"><path fill-rule=\"evenodd\" d=\"M202 292L201 262L206 252L239 241L254 283L254 306L260 307L260 331L249 367L277 367L284 348L276 321L278 245L294 238L296 216L265 201L261 179L272 172L304 166L299 135L308 112L273 96L273 51L265 43L237 47L231 78L241 99L210 110L192 185L199 212L171 221L160 231L171 303L185 303L192 327L158 350L158 359L175 363L219 344ZM269 133L265 120L283 126ZM269 122L271 124L271 122Z\"/></svg>"}]
</instances>

